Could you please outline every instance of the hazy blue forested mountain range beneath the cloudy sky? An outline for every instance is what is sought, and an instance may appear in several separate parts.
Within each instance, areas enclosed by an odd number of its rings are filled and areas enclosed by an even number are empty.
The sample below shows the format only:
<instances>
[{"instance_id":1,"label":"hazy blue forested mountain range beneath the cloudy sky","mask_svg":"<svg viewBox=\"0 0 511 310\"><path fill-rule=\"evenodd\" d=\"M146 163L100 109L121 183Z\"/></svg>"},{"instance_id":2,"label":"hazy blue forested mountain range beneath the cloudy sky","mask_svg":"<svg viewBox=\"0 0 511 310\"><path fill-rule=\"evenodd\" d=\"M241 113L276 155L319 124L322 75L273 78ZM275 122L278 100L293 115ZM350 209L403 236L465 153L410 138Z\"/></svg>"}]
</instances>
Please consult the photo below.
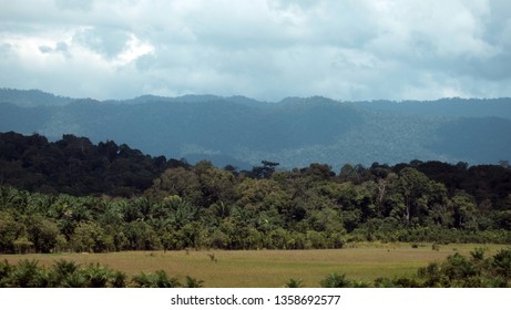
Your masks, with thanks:
<instances>
[{"instance_id":1,"label":"hazy blue forested mountain range beneath the cloudy sky","mask_svg":"<svg viewBox=\"0 0 511 310\"><path fill-rule=\"evenodd\" d=\"M144 95L123 101L0 89L0 132L115 141L153 156L239 168L511 159L511 99L339 102Z\"/></svg>"}]
</instances>

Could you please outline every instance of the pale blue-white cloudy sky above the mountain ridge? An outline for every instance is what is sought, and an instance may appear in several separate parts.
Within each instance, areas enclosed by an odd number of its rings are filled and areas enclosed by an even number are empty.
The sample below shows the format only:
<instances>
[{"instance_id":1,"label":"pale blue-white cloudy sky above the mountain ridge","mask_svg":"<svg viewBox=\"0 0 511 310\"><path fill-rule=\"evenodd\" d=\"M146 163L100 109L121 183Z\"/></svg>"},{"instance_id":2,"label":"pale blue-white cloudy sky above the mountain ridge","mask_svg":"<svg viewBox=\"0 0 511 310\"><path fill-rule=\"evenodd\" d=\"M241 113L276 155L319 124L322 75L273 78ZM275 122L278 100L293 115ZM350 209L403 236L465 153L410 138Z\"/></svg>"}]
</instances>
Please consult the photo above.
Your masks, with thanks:
<instances>
[{"instance_id":1,"label":"pale blue-white cloudy sky above the mountain ridge","mask_svg":"<svg viewBox=\"0 0 511 310\"><path fill-rule=\"evenodd\" d=\"M511 96L509 0L0 0L0 87L72 97Z\"/></svg>"}]
</instances>

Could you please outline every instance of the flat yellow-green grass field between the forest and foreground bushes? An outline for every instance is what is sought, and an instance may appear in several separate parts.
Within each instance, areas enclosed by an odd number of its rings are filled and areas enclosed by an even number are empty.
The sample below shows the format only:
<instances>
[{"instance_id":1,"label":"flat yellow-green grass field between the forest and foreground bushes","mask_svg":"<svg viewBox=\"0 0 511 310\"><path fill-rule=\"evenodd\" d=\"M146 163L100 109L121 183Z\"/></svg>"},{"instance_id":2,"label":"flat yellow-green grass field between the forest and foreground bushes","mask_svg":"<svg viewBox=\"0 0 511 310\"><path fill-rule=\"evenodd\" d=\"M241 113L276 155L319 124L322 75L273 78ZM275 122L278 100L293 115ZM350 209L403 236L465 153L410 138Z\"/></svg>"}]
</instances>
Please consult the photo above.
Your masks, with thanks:
<instances>
[{"instance_id":1,"label":"flat yellow-green grass field between the forest and foreground bushes","mask_svg":"<svg viewBox=\"0 0 511 310\"><path fill-rule=\"evenodd\" d=\"M16 264L35 259L50 266L65 259L81 265L99 262L129 276L165 270L183 280L185 276L204 280L204 287L251 288L283 287L290 278L302 279L305 287L319 287L331 272L346 273L350 279L372 281L379 277L413 277L417 269L431 261L441 261L454 252L469 255L474 248L488 248L487 256L505 248L503 245L442 245L433 250L423 244L361 244L331 250L190 250L124 251L111 254L0 255ZM214 256L214 259L212 259Z\"/></svg>"}]
</instances>

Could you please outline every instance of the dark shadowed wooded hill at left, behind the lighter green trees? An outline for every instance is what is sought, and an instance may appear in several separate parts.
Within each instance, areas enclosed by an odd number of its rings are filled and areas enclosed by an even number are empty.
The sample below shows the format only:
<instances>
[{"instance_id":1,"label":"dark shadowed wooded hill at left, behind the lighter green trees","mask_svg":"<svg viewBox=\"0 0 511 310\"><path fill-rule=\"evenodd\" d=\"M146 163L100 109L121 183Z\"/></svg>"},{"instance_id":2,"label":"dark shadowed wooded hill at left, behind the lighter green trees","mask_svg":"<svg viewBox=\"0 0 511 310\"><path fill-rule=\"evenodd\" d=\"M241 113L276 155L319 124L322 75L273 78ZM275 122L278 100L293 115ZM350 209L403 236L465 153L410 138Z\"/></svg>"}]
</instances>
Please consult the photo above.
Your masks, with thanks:
<instances>
[{"instance_id":1,"label":"dark shadowed wooded hill at left, behind the lighter green trees","mask_svg":"<svg viewBox=\"0 0 511 310\"><path fill-rule=\"evenodd\" d=\"M49 142L34 134L0 133L0 185L48 194L140 195L165 169L186 163L151 157L113 141L92 144L64 135Z\"/></svg>"}]
</instances>

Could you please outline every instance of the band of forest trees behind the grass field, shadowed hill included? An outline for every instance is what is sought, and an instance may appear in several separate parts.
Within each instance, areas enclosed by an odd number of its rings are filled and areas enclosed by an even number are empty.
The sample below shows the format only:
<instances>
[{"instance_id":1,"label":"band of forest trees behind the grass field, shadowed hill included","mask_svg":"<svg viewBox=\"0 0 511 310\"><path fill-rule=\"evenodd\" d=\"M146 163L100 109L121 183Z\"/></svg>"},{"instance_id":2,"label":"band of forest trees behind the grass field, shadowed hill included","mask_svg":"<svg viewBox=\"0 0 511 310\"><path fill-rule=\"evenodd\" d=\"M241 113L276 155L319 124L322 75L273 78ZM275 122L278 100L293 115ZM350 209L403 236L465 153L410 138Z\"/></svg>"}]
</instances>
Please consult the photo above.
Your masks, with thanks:
<instances>
[{"instance_id":1,"label":"band of forest trees behind the grass field, shadowed hill included","mask_svg":"<svg viewBox=\"0 0 511 310\"><path fill-rule=\"evenodd\" d=\"M317 163L279 170L278 163L263 161L237 170L153 158L113 142L95 146L74 136L49 143L39 135L7 135L24 142L1 145L4 167L19 170L2 169L0 252L511 242L511 170L503 164L346 164L336 173ZM44 157L57 151L58 163ZM93 168L102 156L103 165ZM115 170L117 161L123 169ZM41 177L41 186L17 186L45 174L54 176L48 184ZM94 187L95 179L108 190ZM76 188L80 195L71 195Z\"/></svg>"}]
</instances>

